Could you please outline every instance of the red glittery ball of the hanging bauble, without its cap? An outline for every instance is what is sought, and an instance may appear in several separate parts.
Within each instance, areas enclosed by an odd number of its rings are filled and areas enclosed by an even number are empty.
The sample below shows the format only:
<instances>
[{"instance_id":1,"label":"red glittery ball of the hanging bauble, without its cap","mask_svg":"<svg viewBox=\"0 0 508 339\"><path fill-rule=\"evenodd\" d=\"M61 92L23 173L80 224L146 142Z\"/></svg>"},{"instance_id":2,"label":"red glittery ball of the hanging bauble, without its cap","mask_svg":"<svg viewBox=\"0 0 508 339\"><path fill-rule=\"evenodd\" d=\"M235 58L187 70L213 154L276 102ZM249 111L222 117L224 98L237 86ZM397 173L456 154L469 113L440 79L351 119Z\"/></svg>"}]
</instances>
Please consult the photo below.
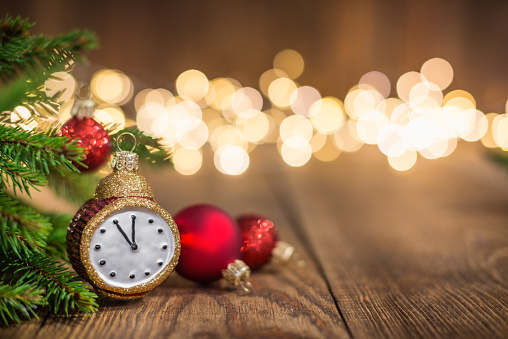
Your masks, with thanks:
<instances>
[{"instance_id":1,"label":"red glittery ball of the hanging bauble, without its cap","mask_svg":"<svg viewBox=\"0 0 508 339\"><path fill-rule=\"evenodd\" d=\"M58 135L76 140L85 149L85 159L82 162L88 168L74 164L81 172L93 171L102 166L111 154L111 137L93 118L72 117L58 131Z\"/></svg>"}]
</instances>

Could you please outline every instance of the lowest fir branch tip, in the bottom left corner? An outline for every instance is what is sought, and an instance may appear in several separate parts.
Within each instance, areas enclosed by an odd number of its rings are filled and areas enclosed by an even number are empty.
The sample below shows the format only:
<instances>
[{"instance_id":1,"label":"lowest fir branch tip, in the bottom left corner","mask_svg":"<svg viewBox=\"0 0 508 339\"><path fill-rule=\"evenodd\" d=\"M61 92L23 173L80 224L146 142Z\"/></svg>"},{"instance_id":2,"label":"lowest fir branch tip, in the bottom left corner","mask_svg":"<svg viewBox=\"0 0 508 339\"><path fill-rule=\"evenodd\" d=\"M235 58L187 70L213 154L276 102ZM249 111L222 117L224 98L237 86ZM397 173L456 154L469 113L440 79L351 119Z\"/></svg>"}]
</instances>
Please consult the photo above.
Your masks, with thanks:
<instances>
[{"instance_id":1,"label":"lowest fir branch tip, in the bottom left corner","mask_svg":"<svg viewBox=\"0 0 508 339\"><path fill-rule=\"evenodd\" d=\"M34 310L45 304L43 289L30 285L0 284L0 318L6 325L21 322L20 315L27 319L39 319Z\"/></svg>"}]
</instances>

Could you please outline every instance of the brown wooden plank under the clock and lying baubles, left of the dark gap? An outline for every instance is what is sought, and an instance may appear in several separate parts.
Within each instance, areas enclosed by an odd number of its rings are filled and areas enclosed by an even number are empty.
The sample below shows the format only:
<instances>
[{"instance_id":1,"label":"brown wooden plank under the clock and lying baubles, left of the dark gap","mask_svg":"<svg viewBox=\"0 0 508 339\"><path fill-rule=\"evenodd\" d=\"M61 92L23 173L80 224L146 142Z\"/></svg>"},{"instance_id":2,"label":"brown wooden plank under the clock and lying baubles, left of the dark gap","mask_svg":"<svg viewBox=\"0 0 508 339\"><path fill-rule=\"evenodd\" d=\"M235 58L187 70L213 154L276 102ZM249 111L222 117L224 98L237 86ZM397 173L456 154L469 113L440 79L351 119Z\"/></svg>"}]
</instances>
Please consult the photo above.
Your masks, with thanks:
<instances>
[{"instance_id":1,"label":"brown wooden plank under the clock and lying baubles, left of the dark gap","mask_svg":"<svg viewBox=\"0 0 508 339\"><path fill-rule=\"evenodd\" d=\"M187 205L211 203L232 215L270 216L281 237L304 257L305 268L265 266L252 275L253 295L223 283L203 287L172 274L142 300L101 300L99 312L92 317L50 316L36 337L349 337L325 281L263 177L204 172L190 178L171 171L148 177L159 203L171 213Z\"/></svg>"}]
</instances>

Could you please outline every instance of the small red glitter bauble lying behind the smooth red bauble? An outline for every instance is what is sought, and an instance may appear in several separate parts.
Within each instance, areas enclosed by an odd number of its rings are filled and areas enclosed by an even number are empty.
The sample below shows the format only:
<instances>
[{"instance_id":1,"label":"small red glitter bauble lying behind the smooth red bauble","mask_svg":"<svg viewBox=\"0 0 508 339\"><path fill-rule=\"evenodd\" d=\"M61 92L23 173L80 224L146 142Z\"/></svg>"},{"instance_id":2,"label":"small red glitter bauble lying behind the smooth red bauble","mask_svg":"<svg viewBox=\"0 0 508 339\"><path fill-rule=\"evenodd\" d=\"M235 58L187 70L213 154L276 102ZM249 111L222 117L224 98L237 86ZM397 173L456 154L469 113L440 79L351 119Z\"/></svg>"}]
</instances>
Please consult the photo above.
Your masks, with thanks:
<instances>
[{"instance_id":1,"label":"small red glitter bauble lying behind the smooth red bauble","mask_svg":"<svg viewBox=\"0 0 508 339\"><path fill-rule=\"evenodd\" d=\"M259 268L270 261L278 240L273 222L259 215L242 215L236 221L242 232L241 259L251 269Z\"/></svg>"}]
</instances>

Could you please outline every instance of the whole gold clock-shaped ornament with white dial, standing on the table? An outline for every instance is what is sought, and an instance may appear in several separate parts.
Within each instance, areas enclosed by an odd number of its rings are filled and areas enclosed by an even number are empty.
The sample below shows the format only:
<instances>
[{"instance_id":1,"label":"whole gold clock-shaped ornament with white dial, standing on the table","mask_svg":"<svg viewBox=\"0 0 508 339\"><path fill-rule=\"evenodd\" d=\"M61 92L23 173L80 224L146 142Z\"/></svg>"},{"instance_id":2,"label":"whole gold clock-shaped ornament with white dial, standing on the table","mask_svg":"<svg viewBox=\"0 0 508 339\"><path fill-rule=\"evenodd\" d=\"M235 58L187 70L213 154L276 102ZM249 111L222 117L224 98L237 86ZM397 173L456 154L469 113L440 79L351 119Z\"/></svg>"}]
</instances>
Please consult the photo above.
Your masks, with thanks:
<instances>
[{"instance_id":1,"label":"whole gold clock-shaped ornament with white dial, standing on the table","mask_svg":"<svg viewBox=\"0 0 508 339\"><path fill-rule=\"evenodd\" d=\"M146 179L137 174L137 154L117 152L112 167L95 198L72 219L67 253L76 272L97 292L133 299L171 274L180 255L180 235Z\"/></svg>"}]
</instances>

